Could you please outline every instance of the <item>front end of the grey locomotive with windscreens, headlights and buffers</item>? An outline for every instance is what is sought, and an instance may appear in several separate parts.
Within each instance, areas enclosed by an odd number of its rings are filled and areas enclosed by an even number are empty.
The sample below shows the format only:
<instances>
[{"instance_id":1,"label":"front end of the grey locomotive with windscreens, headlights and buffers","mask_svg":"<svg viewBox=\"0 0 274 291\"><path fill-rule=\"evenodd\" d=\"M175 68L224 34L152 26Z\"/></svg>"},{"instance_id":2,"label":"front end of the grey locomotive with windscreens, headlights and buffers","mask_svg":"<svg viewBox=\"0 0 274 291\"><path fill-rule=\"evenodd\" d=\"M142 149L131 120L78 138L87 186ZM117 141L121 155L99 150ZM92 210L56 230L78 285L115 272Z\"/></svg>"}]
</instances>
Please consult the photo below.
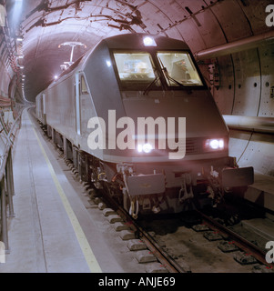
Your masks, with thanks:
<instances>
[{"instance_id":1,"label":"front end of the grey locomotive with windscreens, headlights and buffers","mask_svg":"<svg viewBox=\"0 0 274 291\"><path fill-rule=\"evenodd\" d=\"M132 216L213 205L225 188L251 184L253 168L238 169L228 156L228 127L188 45L121 37L107 40L122 114L108 110L108 145L117 148L105 157Z\"/></svg>"}]
</instances>

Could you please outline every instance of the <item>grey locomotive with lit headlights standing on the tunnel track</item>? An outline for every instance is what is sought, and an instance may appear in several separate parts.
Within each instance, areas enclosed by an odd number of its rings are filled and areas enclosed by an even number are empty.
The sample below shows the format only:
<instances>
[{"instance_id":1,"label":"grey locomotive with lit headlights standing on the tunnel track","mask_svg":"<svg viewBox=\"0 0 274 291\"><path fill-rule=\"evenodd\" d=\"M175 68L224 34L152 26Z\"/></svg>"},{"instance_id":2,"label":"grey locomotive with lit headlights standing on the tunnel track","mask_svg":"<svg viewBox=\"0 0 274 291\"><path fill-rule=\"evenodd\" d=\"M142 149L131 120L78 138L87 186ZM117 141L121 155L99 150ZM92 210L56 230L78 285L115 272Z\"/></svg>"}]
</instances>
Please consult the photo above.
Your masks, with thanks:
<instances>
[{"instance_id":1,"label":"grey locomotive with lit headlights standing on the tunnel track","mask_svg":"<svg viewBox=\"0 0 274 291\"><path fill-rule=\"evenodd\" d=\"M36 118L80 178L135 218L214 206L253 183L183 41L103 39L36 96Z\"/></svg>"}]
</instances>

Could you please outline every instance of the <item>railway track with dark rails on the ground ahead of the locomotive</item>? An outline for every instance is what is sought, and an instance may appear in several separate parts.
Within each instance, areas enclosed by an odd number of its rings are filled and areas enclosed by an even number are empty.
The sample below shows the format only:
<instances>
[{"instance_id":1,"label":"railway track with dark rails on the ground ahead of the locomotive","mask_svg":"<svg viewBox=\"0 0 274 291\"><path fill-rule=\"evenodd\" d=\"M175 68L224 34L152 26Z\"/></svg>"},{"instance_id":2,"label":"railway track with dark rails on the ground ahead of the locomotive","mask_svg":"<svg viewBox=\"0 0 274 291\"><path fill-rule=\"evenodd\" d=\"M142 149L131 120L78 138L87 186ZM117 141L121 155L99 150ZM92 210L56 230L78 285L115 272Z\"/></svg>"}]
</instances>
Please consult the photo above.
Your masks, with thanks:
<instances>
[{"instance_id":1,"label":"railway track with dark rails on the ground ahead of the locomotive","mask_svg":"<svg viewBox=\"0 0 274 291\"><path fill-rule=\"evenodd\" d=\"M175 229L183 227L186 232L184 239L188 240L188 235L192 233L197 233L200 236L199 239L208 239L209 248L216 248L216 252L219 253L219 256L231 256L231 252L235 252L233 259L230 260L228 268L224 266L223 269L220 269L220 272L242 272L242 273L251 273L251 272L262 272L269 273L273 272L273 264L268 264L266 262L265 256L266 251L262 250L259 246L256 246L254 243L250 242L243 236L240 236L235 231L231 230L227 226L223 226L218 222L218 219L212 218L206 215L203 212L195 211L195 219L190 222L192 226L189 227L188 223L186 226L184 219L180 216L175 216L174 218L164 219L149 217L150 223L147 226L145 221L136 221L132 219L127 212L119 206L112 199L102 197L107 206L112 207L117 212L117 215L122 217L123 221L130 226L131 230L135 233L135 236L139 238L150 251L151 254L156 256L157 261L165 267L169 273L192 273L200 272L193 269L193 266L188 265L188 259L185 259L184 252L176 253L176 250L172 250L172 247L168 247L167 243L164 242L165 236L168 233L168 240L174 239L174 244L176 246L182 246L184 242L181 241L181 237L176 236ZM159 220L158 220L159 219ZM165 227L158 227L162 229L162 232L157 232L157 222L159 225L164 225ZM152 227L151 227L152 226ZM171 230L165 231L163 228L170 228ZM188 230L188 231L186 231ZM174 235L172 234L174 233ZM188 234L187 234L188 233ZM193 236L193 234L191 234ZM218 245L216 245L218 241ZM215 245L213 246L213 244ZM201 243L203 244L203 243ZM211 246L212 245L212 246ZM176 249L176 248L175 248ZM201 250L203 247L201 248ZM205 251L205 253L207 253ZM222 255L220 255L223 253ZM203 254L198 254L198 256L203 256ZM206 255L205 257L207 257ZM205 259L206 260L206 259ZM226 265L226 258L224 260L224 265ZM212 262L211 262L212 263ZM210 264L211 264L210 263ZM214 264L213 264L214 265ZM237 266L237 267L236 267ZM236 270L236 271L235 271ZM238 270L238 271L237 271ZM208 269L210 272L210 268ZM204 271L207 272L207 264L205 264ZM214 272L218 272L218 267Z\"/></svg>"}]
</instances>

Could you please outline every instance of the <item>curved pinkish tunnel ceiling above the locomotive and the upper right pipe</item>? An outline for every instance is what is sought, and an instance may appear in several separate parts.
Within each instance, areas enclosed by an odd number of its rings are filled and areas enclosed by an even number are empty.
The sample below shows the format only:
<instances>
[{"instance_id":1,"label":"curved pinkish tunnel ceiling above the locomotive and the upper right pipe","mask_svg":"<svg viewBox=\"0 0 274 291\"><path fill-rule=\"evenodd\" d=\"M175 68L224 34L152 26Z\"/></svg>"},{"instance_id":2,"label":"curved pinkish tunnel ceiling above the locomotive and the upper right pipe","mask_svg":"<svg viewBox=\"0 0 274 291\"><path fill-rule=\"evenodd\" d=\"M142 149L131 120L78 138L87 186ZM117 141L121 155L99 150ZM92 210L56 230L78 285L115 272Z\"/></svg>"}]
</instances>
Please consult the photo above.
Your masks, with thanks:
<instances>
[{"instance_id":1,"label":"curved pinkish tunnel ceiling above the locomotive and the upper right pipe","mask_svg":"<svg viewBox=\"0 0 274 291\"><path fill-rule=\"evenodd\" d=\"M107 36L125 33L167 35L185 40L193 53L223 45L268 29L269 0L13 0L6 2L11 34L24 58L25 98L35 96L75 61ZM62 45L70 42L70 45Z\"/></svg>"}]
</instances>

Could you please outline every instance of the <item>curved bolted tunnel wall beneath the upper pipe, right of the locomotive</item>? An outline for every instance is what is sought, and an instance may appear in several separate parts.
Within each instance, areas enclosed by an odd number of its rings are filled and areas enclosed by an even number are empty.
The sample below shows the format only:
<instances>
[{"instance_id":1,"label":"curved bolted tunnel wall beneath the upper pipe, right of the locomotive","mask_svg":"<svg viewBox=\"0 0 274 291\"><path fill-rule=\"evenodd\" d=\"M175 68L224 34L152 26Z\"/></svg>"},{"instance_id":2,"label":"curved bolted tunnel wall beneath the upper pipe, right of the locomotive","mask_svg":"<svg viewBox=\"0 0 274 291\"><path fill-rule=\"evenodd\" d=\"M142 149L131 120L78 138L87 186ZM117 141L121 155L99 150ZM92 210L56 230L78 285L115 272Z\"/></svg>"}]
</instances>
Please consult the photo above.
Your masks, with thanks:
<instances>
[{"instance_id":1,"label":"curved bolted tunnel wall beneath the upper pipe, right of the locomotive","mask_svg":"<svg viewBox=\"0 0 274 291\"><path fill-rule=\"evenodd\" d=\"M273 59L273 45L218 57L220 86L213 95L222 114L274 117ZM273 134L230 130L229 154L239 166L274 176Z\"/></svg>"}]
</instances>

